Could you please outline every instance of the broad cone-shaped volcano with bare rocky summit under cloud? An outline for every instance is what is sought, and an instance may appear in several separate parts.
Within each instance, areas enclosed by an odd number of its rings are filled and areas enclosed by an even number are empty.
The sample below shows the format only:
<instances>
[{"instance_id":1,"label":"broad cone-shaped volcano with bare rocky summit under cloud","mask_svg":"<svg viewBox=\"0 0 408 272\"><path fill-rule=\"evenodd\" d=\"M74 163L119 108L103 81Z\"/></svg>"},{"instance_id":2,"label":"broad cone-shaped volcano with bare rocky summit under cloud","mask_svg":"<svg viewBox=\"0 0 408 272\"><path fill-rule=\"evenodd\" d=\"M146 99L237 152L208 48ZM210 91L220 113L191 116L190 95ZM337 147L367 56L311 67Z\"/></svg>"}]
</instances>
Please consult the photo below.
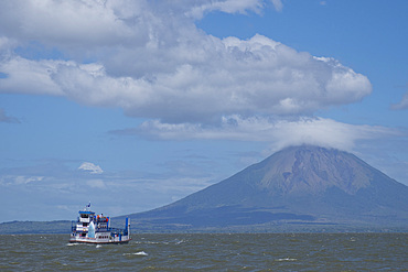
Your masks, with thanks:
<instances>
[{"instance_id":1,"label":"broad cone-shaped volcano with bare rocky summit under cloud","mask_svg":"<svg viewBox=\"0 0 408 272\"><path fill-rule=\"evenodd\" d=\"M407 196L406 185L351 153L302 145L129 217L141 230L404 227Z\"/></svg>"}]
</instances>

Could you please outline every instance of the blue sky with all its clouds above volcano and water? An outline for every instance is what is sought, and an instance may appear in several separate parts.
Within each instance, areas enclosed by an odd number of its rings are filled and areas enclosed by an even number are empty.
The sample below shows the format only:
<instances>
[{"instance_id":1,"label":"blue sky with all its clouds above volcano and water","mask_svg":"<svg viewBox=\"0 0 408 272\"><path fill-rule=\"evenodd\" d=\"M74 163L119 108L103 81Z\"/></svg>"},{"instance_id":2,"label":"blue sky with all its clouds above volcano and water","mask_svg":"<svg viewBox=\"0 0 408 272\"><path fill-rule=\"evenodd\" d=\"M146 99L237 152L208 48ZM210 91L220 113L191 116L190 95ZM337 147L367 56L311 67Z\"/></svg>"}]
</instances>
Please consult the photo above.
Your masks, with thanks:
<instances>
[{"instance_id":1,"label":"blue sky with all its clouds above volcano and water","mask_svg":"<svg viewBox=\"0 0 408 272\"><path fill-rule=\"evenodd\" d=\"M406 0L0 6L0 222L146 211L299 144L408 185Z\"/></svg>"}]
</instances>

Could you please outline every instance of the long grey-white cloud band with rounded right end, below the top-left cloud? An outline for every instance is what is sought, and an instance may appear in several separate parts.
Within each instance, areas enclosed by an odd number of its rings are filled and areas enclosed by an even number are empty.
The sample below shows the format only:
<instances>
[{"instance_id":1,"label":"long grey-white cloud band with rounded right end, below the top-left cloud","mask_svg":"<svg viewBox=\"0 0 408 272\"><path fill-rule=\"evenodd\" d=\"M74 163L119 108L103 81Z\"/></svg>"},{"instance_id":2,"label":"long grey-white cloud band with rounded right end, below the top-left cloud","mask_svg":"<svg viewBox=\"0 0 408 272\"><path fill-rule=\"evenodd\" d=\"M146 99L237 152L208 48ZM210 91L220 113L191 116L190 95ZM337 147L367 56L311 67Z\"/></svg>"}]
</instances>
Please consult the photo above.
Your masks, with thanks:
<instances>
[{"instance_id":1,"label":"long grey-white cloud band with rounded right end, below the top-left cloud","mask_svg":"<svg viewBox=\"0 0 408 272\"><path fill-rule=\"evenodd\" d=\"M265 36L212 40L217 46L202 53L208 55L204 61L176 59L174 70L153 78L114 77L97 63L15 57L1 65L9 77L0 79L0 90L66 96L170 122L208 121L225 113L310 113L358 101L372 90L365 76L336 61L296 52Z\"/></svg>"}]
</instances>

